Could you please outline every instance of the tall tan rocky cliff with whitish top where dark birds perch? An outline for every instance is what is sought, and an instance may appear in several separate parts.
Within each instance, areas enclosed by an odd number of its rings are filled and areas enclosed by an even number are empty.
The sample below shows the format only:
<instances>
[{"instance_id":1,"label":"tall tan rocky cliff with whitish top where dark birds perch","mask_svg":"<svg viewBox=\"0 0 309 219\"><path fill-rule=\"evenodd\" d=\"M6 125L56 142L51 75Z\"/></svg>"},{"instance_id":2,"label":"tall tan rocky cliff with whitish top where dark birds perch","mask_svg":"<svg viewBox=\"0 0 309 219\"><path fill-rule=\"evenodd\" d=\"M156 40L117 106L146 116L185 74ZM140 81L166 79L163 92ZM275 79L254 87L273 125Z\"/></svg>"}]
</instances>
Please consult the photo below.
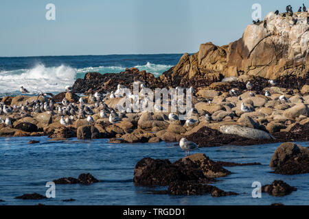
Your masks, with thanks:
<instances>
[{"instance_id":1,"label":"tall tan rocky cliff with whitish top where dark birds perch","mask_svg":"<svg viewBox=\"0 0 309 219\"><path fill-rule=\"evenodd\" d=\"M306 77L309 71L308 16L308 12L296 12L293 16L270 12L258 25L247 26L242 38L235 42L222 47L207 42L201 44L197 53L183 54L179 63L160 79L219 80L240 75L268 79L286 75Z\"/></svg>"}]
</instances>

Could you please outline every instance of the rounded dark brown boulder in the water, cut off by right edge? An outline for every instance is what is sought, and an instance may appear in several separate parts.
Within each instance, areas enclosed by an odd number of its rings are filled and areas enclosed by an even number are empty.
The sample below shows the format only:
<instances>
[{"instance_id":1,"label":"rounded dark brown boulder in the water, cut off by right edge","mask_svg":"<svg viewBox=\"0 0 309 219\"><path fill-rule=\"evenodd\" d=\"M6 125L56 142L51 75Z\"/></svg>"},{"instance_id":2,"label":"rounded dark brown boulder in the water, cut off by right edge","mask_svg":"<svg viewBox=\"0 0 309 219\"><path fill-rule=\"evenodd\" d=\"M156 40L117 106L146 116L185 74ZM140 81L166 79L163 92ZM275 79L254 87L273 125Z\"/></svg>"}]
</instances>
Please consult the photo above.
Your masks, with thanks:
<instances>
[{"instance_id":1,"label":"rounded dark brown boulder in the water, cut off by right edge","mask_svg":"<svg viewBox=\"0 0 309 219\"><path fill-rule=\"evenodd\" d=\"M295 175L309 172L309 150L292 142L281 144L273 154L270 165L275 173Z\"/></svg>"}]
</instances>

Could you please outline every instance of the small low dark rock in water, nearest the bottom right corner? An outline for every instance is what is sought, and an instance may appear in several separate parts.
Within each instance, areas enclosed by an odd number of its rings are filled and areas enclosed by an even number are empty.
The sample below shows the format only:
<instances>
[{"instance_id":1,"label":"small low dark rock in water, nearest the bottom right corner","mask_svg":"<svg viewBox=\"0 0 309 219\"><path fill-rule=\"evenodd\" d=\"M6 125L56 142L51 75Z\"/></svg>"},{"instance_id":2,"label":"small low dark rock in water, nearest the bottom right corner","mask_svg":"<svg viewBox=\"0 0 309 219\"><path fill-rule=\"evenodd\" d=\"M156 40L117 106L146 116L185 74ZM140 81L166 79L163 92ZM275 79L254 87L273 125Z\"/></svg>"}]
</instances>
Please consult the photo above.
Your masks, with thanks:
<instances>
[{"instance_id":1,"label":"small low dark rock in water, nearest the bottom right corner","mask_svg":"<svg viewBox=\"0 0 309 219\"><path fill-rule=\"evenodd\" d=\"M275 180L271 185L262 186L262 192L267 192L272 196L286 196L296 190L297 188L288 185L282 180Z\"/></svg>"}]
</instances>

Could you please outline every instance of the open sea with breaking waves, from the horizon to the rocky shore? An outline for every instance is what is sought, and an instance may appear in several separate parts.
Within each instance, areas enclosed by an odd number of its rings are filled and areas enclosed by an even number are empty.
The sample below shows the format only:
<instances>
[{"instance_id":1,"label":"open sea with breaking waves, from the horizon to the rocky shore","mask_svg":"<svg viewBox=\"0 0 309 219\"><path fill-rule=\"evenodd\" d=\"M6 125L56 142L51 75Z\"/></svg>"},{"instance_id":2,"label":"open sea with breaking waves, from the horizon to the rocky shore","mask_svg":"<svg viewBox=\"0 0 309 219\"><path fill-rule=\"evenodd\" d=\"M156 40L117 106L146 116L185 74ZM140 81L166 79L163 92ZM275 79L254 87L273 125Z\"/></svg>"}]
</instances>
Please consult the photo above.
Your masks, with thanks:
<instances>
[{"instance_id":1,"label":"open sea with breaking waves, from the horizon to the rocky shore","mask_svg":"<svg viewBox=\"0 0 309 219\"><path fill-rule=\"evenodd\" d=\"M21 86L27 88L30 95L39 92L56 94L88 72L119 73L137 67L158 77L177 64L181 55L0 57L0 96L21 94Z\"/></svg>"}]
</instances>

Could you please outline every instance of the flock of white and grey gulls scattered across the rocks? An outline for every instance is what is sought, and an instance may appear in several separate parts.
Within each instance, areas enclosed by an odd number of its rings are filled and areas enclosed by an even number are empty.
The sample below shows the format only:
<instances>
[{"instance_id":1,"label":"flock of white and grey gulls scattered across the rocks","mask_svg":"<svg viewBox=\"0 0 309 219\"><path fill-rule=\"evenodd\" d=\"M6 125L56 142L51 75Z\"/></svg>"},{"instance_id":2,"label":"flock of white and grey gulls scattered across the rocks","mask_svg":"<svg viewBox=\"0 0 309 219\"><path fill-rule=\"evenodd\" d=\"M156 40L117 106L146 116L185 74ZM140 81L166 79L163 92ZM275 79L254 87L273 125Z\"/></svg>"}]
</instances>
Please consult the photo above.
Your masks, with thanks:
<instances>
[{"instance_id":1,"label":"flock of white and grey gulls scattered across the rocks","mask_svg":"<svg viewBox=\"0 0 309 219\"><path fill-rule=\"evenodd\" d=\"M136 83L136 82L135 82ZM277 83L273 80L269 80L268 83L271 84L271 86L275 86ZM100 118L108 118L109 122L114 126L116 123L122 120L122 118L126 115L126 112L132 112L131 110L133 109L133 104L131 103L130 106L125 110L125 111L119 111L119 105L115 105L115 107L108 107L104 101L106 101L108 98L109 99L114 99L114 98L119 98L124 96L124 90L126 87L123 85L118 85L117 90L115 92L111 92L109 94L100 94L98 92L95 92L95 94L90 94L88 101L85 101L84 98L80 97L78 100L78 103L70 103L66 98L62 99L60 103L54 103L52 99L47 98L47 94L41 92L38 94L37 99L33 99L30 103L26 100L25 104L21 105L13 105L13 106L8 106L5 105L4 103L0 103L0 123L5 123L8 127L12 125L12 121L9 117L10 114L13 114L14 112L18 112L21 117L27 117L30 116L31 113L41 113L41 112L49 112L50 114L57 114L60 116L60 124L67 127L68 125L72 125L73 121L75 118L78 119L84 119L87 118L87 123L93 124L95 123L95 120L93 119L93 114L95 112L100 112ZM139 92L140 96L143 94L142 90L146 88L146 86L141 83L140 85L141 92ZM246 84L247 90L251 91L253 88L253 85L250 81L247 82ZM70 91L70 87L65 88L67 91ZM176 90L179 88L177 87ZM192 94L194 92L193 88L190 88L192 91ZM21 86L21 92L22 93L28 93L27 89L23 88ZM231 96L238 96L239 92L236 89L231 89L229 91L229 94ZM182 94L184 97L185 94ZM42 97L39 99L39 97ZM253 92L249 92L249 96L255 96ZM265 96L271 96L271 93L266 90ZM139 99L139 95L133 95L130 94L129 99L133 99L133 102L135 99ZM238 99L241 101L241 96L238 96ZM183 100L183 99L181 99ZM144 99L141 99L140 101L140 107L141 109L144 109L150 99L148 99L148 96L144 96ZM210 100L207 100L208 103L211 103ZM288 101L284 95L279 96L279 101ZM172 102L170 102L172 103ZM179 105L183 106L183 102L180 102L180 100L176 101L176 103L179 103ZM162 110L163 107L160 105L155 104L155 109L156 110ZM183 114L185 112L185 107L178 107L178 113ZM241 103L240 110L242 112L252 112L250 107L247 105L244 105L244 103ZM56 112L55 112L56 111ZM5 114L6 118L3 120L1 115ZM109 116L108 116L109 114ZM193 107L190 110L190 114L197 114L196 109ZM65 118L66 117L66 118ZM211 115L206 113L205 114L205 120L210 121L211 120ZM171 122L178 121L179 120L179 115L171 112L168 114L168 120ZM198 123L198 120L195 120L194 118L187 118L185 121L185 125L187 127L192 127L196 123ZM197 146L194 142L188 142L185 138L182 138L181 141L179 142L179 145L181 149L185 151L185 155L190 154L190 151L193 151L194 149L197 149Z\"/></svg>"}]
</instances>

